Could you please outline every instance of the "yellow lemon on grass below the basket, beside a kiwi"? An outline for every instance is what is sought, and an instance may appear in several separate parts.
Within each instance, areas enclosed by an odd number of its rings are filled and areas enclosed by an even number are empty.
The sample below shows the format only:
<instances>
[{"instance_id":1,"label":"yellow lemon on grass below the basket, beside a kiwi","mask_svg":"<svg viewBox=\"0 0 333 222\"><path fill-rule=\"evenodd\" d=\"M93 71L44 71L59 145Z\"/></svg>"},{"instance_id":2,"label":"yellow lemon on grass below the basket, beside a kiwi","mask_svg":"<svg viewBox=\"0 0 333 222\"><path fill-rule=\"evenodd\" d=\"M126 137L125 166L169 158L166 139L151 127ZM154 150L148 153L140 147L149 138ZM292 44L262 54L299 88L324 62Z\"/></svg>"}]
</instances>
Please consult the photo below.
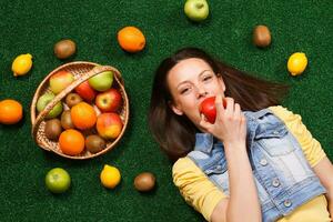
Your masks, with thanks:
<instances>
[{"instance_id":1,"label":"yellow lemon on grass below the basket, beside a kiwi","mask_svg":"<svg viewBox=\"0 0 333 222\"><path fill-rule=\"evenodd\" d=\"M114 189L121 180L120 171L111 165L105 164L101 174L101 183L108 189Z\"/></svg>"}]
</instances>

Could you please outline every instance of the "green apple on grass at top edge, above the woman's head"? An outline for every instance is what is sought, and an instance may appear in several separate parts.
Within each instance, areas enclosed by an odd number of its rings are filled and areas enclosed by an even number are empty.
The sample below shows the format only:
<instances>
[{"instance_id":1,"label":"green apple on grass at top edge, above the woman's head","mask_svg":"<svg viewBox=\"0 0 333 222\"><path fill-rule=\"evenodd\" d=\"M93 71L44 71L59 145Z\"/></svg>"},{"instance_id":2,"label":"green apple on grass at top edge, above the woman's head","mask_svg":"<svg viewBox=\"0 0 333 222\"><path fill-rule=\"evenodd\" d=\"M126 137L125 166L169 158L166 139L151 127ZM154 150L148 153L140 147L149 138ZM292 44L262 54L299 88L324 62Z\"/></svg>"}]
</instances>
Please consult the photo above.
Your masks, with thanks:
<instances>
[{"instance_id":1,"label":"green apple on grass at top edge, above the woman's head","mask_svg":"<svg viewBox=\"0 0 333 222\"><path fill-rule=\"evenodd\" d=\"M184 12L190 20L199 22L208 18L210 9L206 0L186 0Z\"/></svg>"}]
</instances>

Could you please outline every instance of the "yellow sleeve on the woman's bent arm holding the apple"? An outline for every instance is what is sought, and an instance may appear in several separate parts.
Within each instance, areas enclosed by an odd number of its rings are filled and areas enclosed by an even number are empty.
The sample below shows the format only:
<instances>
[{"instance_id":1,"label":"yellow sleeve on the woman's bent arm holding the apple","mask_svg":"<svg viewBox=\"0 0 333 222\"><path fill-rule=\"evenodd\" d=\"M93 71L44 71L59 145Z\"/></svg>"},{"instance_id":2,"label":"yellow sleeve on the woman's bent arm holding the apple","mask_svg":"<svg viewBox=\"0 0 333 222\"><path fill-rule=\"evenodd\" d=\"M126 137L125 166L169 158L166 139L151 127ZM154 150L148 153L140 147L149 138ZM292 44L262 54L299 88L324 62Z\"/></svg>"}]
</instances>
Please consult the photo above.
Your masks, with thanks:
<instances>
[{"instance_id":1,"label":"yellow sleeve on the woman's bent arm holding the apple","mask_svg":"<svg viewBox=\"0 0 333 222\"><path fill-rule=\"evenodd\" d=\"M226 195L206 178L190 158L181 158L173 164L172 176L184 200L206 221L211 221L214 208Z\"/></svg>"}]
</instances>

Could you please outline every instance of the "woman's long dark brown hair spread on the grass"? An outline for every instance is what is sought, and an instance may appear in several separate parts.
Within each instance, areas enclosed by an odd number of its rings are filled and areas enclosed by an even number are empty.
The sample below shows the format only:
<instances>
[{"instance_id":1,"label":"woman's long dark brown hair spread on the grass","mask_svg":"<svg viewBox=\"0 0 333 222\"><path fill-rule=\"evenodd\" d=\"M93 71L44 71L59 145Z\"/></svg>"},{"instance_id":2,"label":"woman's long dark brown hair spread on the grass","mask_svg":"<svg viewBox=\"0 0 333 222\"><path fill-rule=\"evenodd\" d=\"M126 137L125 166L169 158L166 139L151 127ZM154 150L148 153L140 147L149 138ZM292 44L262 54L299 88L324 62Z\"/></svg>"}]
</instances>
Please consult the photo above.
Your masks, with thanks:
<instances>
[{"instance_id":1,"label":"woman's long dark brown hair spread on the grass","mask_svg":"<svg viewBox=\"0 0 333 222\"><path fill-rule=\"evenodd\" d=\"M168 73L176 63L190 58L204 60L214 73L220 73L226 88L225 97L233 98L242 110L259 111L276 105L287 93L287 85L254 78L215 60L201 49L184 48L176 51L164 59L155 71L149 110L151 132L171 160L184 157L193 149L198 131L185 115L175 114L169 105L172 97L167 82Z\"/></svg>"}]
</instances>

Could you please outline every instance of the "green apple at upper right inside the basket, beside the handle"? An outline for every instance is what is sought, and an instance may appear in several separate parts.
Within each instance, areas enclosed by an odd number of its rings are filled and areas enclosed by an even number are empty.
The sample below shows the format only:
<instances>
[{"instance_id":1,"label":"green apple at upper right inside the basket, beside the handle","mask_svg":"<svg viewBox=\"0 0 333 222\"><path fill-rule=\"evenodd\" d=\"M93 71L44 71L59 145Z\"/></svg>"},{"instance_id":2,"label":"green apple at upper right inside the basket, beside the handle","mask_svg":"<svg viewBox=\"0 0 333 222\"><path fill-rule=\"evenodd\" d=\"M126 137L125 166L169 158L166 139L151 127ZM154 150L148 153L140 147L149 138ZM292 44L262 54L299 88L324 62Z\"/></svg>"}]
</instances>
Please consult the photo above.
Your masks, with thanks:
<instances>
[{"instance_id":1,"label":"green apple at upper right inside the basket, beside the handle","mask_svg":"<svg viewBox=\"0 0 333 222\"><path fill-rule=\"evenodd\" d=\"M103 92L111 88L113 82L113 72L105 71L101 72L88 80L90 87L92 87L94 90Z\"/></svg>"}]
</instances>

